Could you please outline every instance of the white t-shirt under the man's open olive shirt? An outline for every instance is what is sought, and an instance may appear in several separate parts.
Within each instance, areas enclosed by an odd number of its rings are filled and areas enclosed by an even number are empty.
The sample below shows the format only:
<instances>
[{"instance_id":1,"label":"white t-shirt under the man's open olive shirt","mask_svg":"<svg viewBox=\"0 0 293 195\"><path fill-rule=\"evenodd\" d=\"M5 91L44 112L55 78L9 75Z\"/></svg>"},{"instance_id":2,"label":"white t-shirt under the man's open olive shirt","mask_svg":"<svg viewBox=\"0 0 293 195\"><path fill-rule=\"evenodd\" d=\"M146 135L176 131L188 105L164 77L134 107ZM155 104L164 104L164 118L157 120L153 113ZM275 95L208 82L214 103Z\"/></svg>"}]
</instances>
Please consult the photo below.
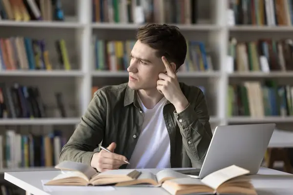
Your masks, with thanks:
<instances>
[{"instance_id":1,"label":"white t-shirt under the man's open olive shirt","mask_svg":"<svg viewBox=\"0 0 293 195\"><path fill-rule=\"evenodd\" d=\"M162 98L153 109L147 109L139 97L138 101L145 117L127 168L170 168L170 138L163 117L167 99Z\"/></svg>"}]
</instances>

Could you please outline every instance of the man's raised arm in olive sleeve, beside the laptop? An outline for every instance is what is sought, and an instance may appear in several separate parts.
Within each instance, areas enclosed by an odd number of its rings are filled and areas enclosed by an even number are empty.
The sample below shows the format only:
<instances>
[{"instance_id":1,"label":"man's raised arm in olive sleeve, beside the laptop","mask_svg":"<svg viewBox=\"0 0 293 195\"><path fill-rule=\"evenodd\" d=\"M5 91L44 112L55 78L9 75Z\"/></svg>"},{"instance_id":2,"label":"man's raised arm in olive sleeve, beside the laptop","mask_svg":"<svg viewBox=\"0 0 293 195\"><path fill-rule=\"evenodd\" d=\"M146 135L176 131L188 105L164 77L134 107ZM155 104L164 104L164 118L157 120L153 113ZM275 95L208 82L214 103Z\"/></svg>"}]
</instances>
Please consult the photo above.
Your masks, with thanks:
<instances>
[{"instance_id":1,"label":"man's raised arm in olive sleeve, beside the laptop","mask_svg":"<svg viewBox=\"0 0 293 195\"><path fill-rule=\"evenodd\" d=\"M179 125L184 148L191 160L192 167L200 168L209 148L212 132L209 124L208 108L205 96L201 90L189 94L197 94L197 97L189 101L185 109L174 112ZM176 109L177 110L177 109Z\"/></svg>"}]
</instances>

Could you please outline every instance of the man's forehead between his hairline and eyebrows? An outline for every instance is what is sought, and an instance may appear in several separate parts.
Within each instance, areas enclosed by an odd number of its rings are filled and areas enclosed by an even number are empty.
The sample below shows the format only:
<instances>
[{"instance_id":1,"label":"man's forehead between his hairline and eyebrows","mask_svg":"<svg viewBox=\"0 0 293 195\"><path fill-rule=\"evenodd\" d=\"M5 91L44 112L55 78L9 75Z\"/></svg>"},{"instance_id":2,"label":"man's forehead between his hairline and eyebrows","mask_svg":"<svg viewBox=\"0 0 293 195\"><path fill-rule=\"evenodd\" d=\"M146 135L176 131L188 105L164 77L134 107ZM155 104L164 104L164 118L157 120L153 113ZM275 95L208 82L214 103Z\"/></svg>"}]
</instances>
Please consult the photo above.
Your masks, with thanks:
<instances>
[{"instance_id":1,"label":"man's forehead between his hairline and eyebrows","mask_svg":"<svg viewBox=\"0 0 293 195\"><path fill-rule=\"evenodd\" d=\"M157 58L155 55L156 50L142 43L139 40L137 40L136 43L134 44L131 53L137 58L144 58L144 59Z\"/></svg>"}]
</instances>

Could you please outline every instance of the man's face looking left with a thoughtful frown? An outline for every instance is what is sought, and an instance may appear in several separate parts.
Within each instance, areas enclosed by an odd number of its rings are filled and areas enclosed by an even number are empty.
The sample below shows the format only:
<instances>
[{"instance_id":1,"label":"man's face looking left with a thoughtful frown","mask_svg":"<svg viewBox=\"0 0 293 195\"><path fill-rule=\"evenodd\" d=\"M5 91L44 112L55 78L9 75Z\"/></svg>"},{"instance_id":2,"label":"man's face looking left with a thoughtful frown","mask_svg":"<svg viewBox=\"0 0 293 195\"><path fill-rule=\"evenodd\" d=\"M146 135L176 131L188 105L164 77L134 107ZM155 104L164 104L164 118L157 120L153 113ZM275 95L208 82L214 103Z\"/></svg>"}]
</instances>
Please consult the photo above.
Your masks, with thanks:
<instances>
[{"instance_id":1,"label":"man's face looking left with a thoughtful frown","mask_svg":"<svg viewBox=\"0 0 293 195\"><path fill-rule=\"evenodd\" d=\"M127 71L129 72L128 86L134 90L154 89L157 87L159 74L165 72L161 58L156 55L156 50L146 44L136 41L131 51L131 60Z\"/></svg>"}]
</instances>

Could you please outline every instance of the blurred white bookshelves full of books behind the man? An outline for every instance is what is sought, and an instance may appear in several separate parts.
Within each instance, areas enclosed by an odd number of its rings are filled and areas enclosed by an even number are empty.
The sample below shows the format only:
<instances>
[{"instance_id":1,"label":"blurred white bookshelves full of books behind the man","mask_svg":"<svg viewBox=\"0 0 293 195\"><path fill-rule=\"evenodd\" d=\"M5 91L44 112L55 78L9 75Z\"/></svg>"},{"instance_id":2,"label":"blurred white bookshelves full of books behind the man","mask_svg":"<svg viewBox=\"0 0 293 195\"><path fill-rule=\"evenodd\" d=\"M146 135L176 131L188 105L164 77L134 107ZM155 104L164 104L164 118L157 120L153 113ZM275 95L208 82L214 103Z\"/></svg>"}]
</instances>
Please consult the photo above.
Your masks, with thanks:
<instances>
[{"instance_id":1,"label":"blurred white bookshelves full of books behind the man","mask_svg":"<svg viewBox=\"0 0 293 195\"><path fill-rule=\"evenodd\" d=\"M0 0L2 194L24 193L4 172L55 170L93 92L128 81L146 23L186 37L178 78L212 128L276 123L262 165L293 172L293 0Z\"/></svg>"}]
</instances>

